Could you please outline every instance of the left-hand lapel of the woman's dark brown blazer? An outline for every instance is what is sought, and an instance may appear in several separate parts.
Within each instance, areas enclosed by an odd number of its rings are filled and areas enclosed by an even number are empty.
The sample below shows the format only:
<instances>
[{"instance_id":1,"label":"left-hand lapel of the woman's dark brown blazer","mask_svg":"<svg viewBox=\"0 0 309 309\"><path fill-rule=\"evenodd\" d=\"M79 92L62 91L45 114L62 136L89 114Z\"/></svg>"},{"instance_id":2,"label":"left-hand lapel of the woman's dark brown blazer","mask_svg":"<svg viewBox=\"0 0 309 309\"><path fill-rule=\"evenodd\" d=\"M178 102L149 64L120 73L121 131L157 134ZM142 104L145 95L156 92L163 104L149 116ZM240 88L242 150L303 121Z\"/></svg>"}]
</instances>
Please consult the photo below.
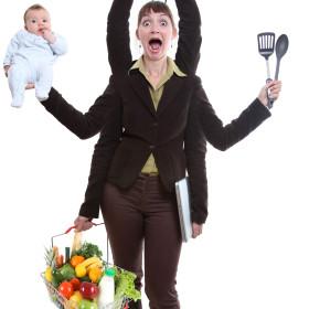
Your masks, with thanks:
<instances>
[{"instance_id":1,"label":"left-hand lapel of the woman's dark brown blazer","mask_svg":"<svg viewBox=\"0 0 309 309\"><path fill-rule=\"evenodd\" d=\"M137 93L137 95L141 98L143 104L147 106L147 108L150 110L152 115L156 115L156 109L150 96L149 92L149 85L146 78L141 74L131 74L129 77L131 86L134 90Z\"/></svg>"}]
</instances>

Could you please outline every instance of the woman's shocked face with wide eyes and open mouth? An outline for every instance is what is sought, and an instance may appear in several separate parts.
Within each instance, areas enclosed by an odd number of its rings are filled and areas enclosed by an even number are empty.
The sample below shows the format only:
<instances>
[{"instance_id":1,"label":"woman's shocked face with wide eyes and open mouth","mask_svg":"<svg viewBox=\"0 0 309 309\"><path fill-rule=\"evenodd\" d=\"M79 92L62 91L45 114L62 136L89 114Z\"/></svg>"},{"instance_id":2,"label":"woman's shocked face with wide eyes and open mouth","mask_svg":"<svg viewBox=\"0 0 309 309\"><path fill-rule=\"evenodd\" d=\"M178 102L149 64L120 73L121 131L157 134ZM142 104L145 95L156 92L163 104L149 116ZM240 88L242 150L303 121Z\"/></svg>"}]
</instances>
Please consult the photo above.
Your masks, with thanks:
<instances>
[{"instance_id":1,"label":"woman's shocked face with wide eyes and open mouth","mask_svg":"<svg viewBox=\"0 0 309 309\"><path fill-rule=\"evenodd\" d=\"M142 17L137 29L137 38L140 40L143 56L157 61L167 56L171 41L177 36L177 30L166 13L150 13Z\"/></svg>"}]
</instances>

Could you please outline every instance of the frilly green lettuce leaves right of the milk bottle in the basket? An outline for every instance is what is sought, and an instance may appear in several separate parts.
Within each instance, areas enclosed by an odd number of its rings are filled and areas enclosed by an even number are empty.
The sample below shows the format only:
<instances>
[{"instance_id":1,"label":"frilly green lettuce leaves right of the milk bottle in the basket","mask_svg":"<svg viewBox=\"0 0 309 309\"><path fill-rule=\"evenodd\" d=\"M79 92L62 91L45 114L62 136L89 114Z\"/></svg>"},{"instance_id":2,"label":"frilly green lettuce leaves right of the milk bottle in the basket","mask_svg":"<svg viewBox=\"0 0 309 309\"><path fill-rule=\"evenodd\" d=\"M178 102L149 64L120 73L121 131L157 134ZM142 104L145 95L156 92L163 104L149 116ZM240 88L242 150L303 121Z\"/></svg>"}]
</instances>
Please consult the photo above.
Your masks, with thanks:
<instances>
[{"instance_id":1,"label":"frilly green lettuce leaves right of the milk bottle in the basket","mask_svg":"<svg viewBox=\"0 0 309 309\"><path fill-rule=\"evenodd\" d=\"M141 299L140 291L135 287L136 275L131 271L121 269L115 277L115 298L124 296L131 298L134 301Z\"/></svg>"}]
</instances>

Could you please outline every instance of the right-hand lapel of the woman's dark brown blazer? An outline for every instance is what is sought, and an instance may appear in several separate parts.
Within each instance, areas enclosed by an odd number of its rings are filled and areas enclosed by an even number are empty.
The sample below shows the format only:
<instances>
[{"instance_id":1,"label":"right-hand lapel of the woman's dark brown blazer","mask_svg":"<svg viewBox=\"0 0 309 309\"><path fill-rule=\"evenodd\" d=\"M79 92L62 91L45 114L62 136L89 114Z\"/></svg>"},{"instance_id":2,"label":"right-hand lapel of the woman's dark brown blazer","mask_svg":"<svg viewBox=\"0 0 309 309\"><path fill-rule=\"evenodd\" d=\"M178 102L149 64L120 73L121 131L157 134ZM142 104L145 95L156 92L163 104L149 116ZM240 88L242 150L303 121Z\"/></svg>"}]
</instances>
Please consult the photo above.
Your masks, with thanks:
<instances>
[{"instance_id":1,"label":"right-hand lapel of the woman's dark brown blazer","mask_svg":"<svg viewBox=\"0 0 309 309\"><path fill-rule=\"evenodd\" d=\"M175 95L181 90L184 83L184 77L173 75L166 84L162 97L159 102L157 115L161 114L170 104L173 103Z\"/></svg>"}]
</instances>

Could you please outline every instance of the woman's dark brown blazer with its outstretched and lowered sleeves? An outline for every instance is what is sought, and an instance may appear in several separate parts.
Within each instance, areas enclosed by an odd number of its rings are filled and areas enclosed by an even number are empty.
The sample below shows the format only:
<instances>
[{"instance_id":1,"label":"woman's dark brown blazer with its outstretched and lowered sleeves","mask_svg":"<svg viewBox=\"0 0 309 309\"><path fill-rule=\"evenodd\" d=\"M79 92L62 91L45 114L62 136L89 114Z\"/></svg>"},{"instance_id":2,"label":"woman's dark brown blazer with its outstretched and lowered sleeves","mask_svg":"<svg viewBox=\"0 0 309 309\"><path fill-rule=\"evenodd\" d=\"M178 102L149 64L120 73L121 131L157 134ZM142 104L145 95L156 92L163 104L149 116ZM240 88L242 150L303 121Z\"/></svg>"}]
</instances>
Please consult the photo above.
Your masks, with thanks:
<instances>
[{"instance_id":1,"label":"woman's dark brown blazer with its outstretched and lowered sleeves","mask_svg":"<svg viewBox=\"0 0 309 309\"><path fill-rule=\"evenodd\" d=\"M126 6L127 2L129 1L121 4ZM178 0L177 3L181 2L194 1ZM119 4L119 0L115 0L115 3ZM121 20L126 21L117 19L117 22ZM199 19L195 20L199 22ZM194 33L191 34L188 38L192 40ZM199 38L199 31L195 34ZM88 138L102 129L100 139L95 146L85 203L79 214L98 216L102 189L106 179L119 187L129 187L152 152L161 181L169 191L173 190L174 182L184 177L185 168L188 169L193 193L192 220L203 223L207 215L205 138L214 147L225 150L269 116L269 111L255 100L239 118L223 127L202 89L201 81L191 76L190 68L195 71L194 63L198 63L199 56L194 58L190 53L181 53L182 49L190 49L185 45L185 40L180 38L179 41L177 63L181 70L185 63L190 63L189 72L183 70L189 76L183 78L174 75L167 83L157 113L146 79L137 71L128 75L124 63L119 67L116 64L113 66L114 77L109 86L86 114L68 105L55 89L51 90L50 98L43 103L49 111L81 138ZM129 45L124 40L117 42ZM201 43L199 39L192 42ZM194 51L194 46L192 50ZM109 51L109 55L114 54ZM127 63L130 55L124 58ZM131 63L128 67L130 65Z\"/></svg>"}]
</instances>

